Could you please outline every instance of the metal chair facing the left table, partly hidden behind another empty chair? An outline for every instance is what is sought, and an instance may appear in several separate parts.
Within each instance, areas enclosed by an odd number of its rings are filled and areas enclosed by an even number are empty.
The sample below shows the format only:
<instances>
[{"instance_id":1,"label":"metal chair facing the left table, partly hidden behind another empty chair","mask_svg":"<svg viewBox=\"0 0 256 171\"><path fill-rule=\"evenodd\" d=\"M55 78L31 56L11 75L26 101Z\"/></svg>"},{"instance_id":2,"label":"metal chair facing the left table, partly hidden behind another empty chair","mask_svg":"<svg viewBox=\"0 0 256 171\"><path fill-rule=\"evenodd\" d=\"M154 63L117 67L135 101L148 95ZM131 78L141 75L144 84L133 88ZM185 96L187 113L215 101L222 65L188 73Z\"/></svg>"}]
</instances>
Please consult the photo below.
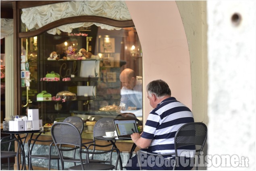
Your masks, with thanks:
<instances>
[{"instance_id":1,"label":"metal chair facing the left table, partly hidden behind another empty chair","mask_svg":"<svg viewBox=\"0 0 256 171\"><path fill-rule=\"evenodd\" d=\"M83 133L83 119L81 117L76 117L76 116L70 116L70 117L67 117L63 122L67 122L67 123L71 123L73 124L74 126L77 127L77 129L79 130L79 132L82 134ZM32 153L32 150L33 150L33 147L34 147L34 144L35 142L48 142L50 143L49 145L49 148L48 148L48 154L45 154L45 155L35 155ZM31 162L31 159L32 158L35 158L35 159L45 159L45 160L49 160L49 163L48 163L48 170L50 170L50 164L51 164L51 160L57 160L57 167L58 167L58 170L60 169L60 166L59 166L59 160L60 160L60 157L58 155L52 155L52 146L53 146L53 140L38 140L38 139L30 139L28 140L27 142L28 144L28 151L29 151L29 170L33 170L33 167L32 167L32 162ZM70 157L64 157L65 159L69 160L70 162L80 162L79 159L75 159L75 152L74 152L74 155L73 155L73 158L70 158Z\"/></svg>"}]
</instances>

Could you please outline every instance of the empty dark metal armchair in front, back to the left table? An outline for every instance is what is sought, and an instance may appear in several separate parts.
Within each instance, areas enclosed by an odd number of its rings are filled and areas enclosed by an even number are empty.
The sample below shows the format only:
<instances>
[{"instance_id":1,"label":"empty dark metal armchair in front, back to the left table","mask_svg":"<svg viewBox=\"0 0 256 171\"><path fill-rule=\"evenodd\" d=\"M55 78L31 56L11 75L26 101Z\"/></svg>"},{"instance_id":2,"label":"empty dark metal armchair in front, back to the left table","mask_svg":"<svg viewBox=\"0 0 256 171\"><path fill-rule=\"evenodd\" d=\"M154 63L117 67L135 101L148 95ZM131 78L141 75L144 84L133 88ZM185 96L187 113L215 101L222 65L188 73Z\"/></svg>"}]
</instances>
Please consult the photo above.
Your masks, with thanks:
<instances>
[{"instance_id":1,"label":"empty dark metal armchair in front, back to the left table","mask_svg":"<svg viewBox=\"0 0 256 171\"><path fill-rule=\"evenodd\" d=\"M82 144L82 138L79 130L72 124L65 122L56 122L52 125L51 129L52 139L54 144L58 150L58 154L60 157L60 163L62 170L64 169L64 162L66 161L63 156L64 152L70 152L73 150L79 150L79 160L80 165L75 165L73 167L69 167L69 170L111 170L117 169L117 165L120 158L120 151L117 148L113 148L110 150L106 150L103 152L89 152L88 148ZM69 148L65 148L65 145L68 145ZM96 144L92 144L93 146L98 146ZM70 147L71 146L71 147ZM108 152L117 152L116 164L106 164L106 163L92 163L89 161L89 154L93 155L102 155ZM82 153L85 153L85 159L87 163L83 163ZM111 161L111 158L110 158Z\"/></svg>"}]
</instances>

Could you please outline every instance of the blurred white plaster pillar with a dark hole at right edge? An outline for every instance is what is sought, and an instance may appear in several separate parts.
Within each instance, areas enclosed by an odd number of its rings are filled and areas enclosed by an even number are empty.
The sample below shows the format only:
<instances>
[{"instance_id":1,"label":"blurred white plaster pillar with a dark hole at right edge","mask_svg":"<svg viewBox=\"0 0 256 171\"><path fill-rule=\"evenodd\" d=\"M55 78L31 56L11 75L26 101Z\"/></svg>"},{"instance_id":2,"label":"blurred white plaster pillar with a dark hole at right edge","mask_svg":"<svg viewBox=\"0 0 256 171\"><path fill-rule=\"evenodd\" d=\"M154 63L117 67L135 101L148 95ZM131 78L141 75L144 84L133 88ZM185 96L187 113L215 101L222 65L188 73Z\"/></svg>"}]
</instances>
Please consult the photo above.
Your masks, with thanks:
<instances>
[{"instance_id":1,"label":"blurred white plaster pillar with a dark hole at right edge","mask_svg":"<svg viewBox=\"0 0 256 171\"><path fill-rule=\"evenodd\" d=\"M255 8L207 1L210 170L255 170Z\"/></svg>"}]
</instances>

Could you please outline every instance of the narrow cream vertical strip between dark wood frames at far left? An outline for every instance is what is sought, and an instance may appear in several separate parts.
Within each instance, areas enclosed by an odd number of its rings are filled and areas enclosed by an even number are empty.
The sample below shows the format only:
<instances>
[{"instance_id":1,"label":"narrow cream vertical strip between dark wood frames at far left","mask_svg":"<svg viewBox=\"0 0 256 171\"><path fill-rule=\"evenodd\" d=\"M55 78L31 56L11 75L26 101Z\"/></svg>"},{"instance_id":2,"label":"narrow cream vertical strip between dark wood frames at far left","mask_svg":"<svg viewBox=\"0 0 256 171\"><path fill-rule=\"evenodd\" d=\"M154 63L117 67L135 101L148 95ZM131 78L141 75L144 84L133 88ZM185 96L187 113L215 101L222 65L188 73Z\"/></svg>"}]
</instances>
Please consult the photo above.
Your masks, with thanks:
<instances>
[{"instance_id":1,"label":"narrow cream vertical strip between dark wood frames at far left","mask_svg":"<svg viewBox=\"0 0 256 171\"><path fill-rule=\"evenodd\" d=\"M5 36L5 121L14 115L13 34Z\"/></svg>"}]
</instances>

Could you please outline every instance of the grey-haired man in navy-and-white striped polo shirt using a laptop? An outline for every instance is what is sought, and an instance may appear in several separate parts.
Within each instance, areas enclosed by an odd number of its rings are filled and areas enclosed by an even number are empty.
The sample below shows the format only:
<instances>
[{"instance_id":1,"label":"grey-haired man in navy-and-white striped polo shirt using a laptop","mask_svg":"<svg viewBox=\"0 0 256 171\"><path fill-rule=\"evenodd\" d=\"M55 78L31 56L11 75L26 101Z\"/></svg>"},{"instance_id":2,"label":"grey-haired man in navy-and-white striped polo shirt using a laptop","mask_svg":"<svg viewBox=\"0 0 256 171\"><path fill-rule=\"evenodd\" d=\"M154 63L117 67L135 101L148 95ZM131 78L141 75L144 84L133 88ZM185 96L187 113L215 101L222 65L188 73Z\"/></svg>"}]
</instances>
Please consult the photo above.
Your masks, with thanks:
<instances>
[{"instance_id":1,"label":"grey-haired man in navy-and-white striped polo shirt using a laptop","mask_svg":"<svg viewBox=\"0 0 256 171\"><path fill-rule=\"evenodd\" d=\"M184 124L194 122L192 112L188 107L177 101L175 97L171 97L171 90L166 82L163 80L154 80L147 85L148 99L150 105L154 108L148 115L144 130L142 134L133 133L131 138L133 142L139 148L146 149L149 152L164 154L174 153L174 137L177 130ZM191 149L180 149L178 154L181 152L195 152L194 147ZM183 154L182 153L182 154ZM188 153L184 153L188 156ZM191 153L189 153L191 154ZM193 154L193 153L192 153ZM164 156L164 160L175 159L175 155ZM193 157L193 156L190 156ZM187 161L185 159L191 159L189 157L179 157L180 160ZM153 161L150 161L153 160ZM144 158L144 162L147 162L146 166L143 165L142 169L146 170L172 170L172 165L154 165L154 159ZM173 161L172 161L173 162ZM153 163L153 165L152 165ZM156 162L155 162L156 163ZM186 163L188 164L188 163ZM127 170L139 170L137 165L137 155L127 163ZM178 170L192 169L190 165L176 165Z\"/></svg>"}]
</instances>

